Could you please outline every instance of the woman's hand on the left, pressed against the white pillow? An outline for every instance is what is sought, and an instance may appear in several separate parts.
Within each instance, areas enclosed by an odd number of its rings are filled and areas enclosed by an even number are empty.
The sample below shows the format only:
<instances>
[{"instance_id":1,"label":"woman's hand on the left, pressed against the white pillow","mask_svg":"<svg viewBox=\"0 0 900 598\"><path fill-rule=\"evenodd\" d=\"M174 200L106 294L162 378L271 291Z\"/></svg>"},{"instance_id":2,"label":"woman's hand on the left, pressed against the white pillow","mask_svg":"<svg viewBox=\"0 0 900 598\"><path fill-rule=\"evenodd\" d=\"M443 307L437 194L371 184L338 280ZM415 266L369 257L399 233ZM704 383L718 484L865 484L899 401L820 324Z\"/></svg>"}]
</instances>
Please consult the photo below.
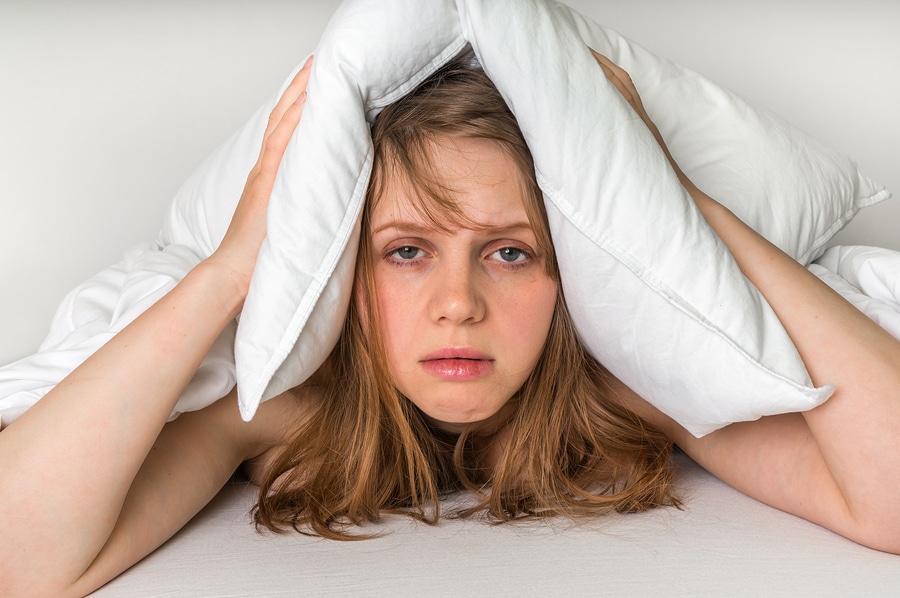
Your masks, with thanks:
<instances>
[{"instance_id":1,"label":"woman's hand on the left, pressed against the white pillow","mask_svg":"<svg viewBox=\"0 0 900 598\"><path fill-rule=\"evenodd\" d=\"M227 268L244 295L250 285L259 248L266 236L266 212L275 177L303 113L312 61L310 56L269 115L259 158L247 177L231 224L222 243L206 260L210 264Z\"/></svg>"}]
</instances>

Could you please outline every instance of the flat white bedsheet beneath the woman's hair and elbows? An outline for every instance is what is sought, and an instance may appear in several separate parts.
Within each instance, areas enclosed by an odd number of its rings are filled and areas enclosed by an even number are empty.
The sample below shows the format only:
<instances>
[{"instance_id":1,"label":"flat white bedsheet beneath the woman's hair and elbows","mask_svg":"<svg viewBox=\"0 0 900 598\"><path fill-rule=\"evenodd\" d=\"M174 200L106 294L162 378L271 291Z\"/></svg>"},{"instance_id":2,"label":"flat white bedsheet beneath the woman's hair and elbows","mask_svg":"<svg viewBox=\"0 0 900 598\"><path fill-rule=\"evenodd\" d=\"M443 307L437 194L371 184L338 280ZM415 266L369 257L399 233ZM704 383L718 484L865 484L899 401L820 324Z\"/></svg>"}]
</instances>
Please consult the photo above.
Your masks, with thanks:
<instances>
[{"instance_id":1,"label":"flat white bedsheet beneath the woman's hair and elbows","mask_svg":"<svg viewBox=\"0 0 900 598\"><path fill-rule=\"evenodd\" d=\"M127 596L896 596L900 557L729 488L676 456L684 510L492 526L389 517L381 538L257 534L256 487L226 487L94 594Z\"/></svg>"}]
</instances>

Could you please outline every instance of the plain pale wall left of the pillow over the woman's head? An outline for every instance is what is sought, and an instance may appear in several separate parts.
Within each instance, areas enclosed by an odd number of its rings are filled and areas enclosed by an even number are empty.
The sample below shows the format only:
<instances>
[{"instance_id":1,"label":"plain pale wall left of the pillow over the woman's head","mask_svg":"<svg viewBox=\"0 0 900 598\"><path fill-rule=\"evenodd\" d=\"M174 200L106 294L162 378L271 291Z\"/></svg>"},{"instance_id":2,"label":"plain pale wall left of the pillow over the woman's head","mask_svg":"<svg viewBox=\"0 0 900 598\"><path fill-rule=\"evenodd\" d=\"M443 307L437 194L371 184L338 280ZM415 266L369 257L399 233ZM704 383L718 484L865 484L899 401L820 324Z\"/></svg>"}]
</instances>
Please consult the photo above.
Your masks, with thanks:
<instances>
[{"instance_id":1,"label":"plain pale wall left of the pillow over the woman's head","mask_svg":"<svg viewBox=\"0 0 900 598\"><path fill-rule=\"evenodd\" d=\"M0 363L34 351L69 289L156 237L335 6L0 0Z\"/></svg>"}]
</instances>

